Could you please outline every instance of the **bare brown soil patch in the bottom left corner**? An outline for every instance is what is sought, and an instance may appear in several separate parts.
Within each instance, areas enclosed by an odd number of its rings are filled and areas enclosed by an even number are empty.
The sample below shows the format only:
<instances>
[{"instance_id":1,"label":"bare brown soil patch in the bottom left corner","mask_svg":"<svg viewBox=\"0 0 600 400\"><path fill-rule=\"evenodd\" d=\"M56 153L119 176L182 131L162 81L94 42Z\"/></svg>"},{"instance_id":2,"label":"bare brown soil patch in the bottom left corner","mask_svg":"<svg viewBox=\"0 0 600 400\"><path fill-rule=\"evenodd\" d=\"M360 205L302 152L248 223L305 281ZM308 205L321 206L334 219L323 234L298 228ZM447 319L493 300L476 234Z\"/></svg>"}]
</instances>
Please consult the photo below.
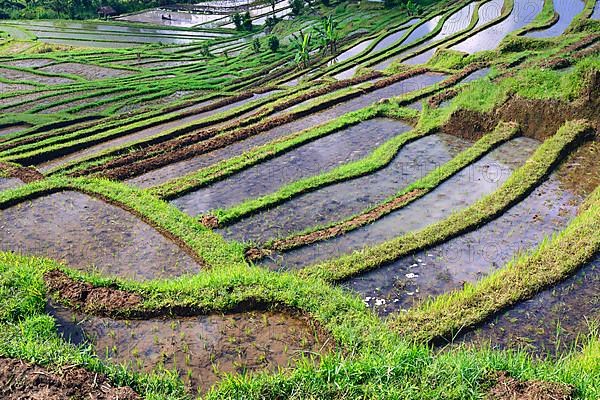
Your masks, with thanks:
<instances>
[{"instance_id":1,"label":"bare brown soil patch in the bottom left corner","mask_svg":"<svg viewBox=\"0 0 600 400\"><path fill-rule=\"evenodd\" d=\"M22 360L0 358L0 397L5 400L138 400L129 387L80 367L48 369Z\"/></svg>"}]
</instances>

